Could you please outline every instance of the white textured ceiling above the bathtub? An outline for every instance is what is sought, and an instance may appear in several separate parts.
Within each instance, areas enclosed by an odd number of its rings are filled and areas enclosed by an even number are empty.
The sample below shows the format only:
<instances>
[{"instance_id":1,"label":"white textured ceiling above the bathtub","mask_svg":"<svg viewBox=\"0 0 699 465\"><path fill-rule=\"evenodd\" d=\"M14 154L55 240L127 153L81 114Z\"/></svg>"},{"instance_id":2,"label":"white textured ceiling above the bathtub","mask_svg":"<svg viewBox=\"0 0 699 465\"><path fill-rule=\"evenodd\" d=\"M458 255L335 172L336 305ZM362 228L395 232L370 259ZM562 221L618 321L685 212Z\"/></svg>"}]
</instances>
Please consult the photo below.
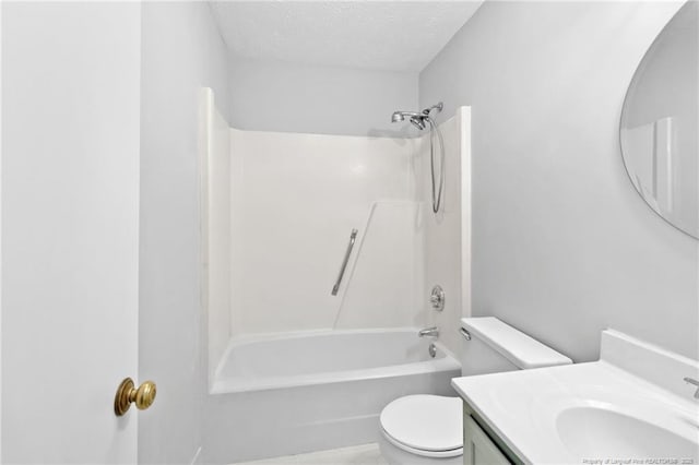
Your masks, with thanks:
<instances>
[{"instance_id":1,"label":"white textured ceiling above the bathtub","mask_svg":"<svg viewBox=\"0 0 699 465\"><path fill-rule=\"evenodd\" d=\"M420 71L483 1L214 1L232 53L328 67Z\"/></svg>"}]
</instances>

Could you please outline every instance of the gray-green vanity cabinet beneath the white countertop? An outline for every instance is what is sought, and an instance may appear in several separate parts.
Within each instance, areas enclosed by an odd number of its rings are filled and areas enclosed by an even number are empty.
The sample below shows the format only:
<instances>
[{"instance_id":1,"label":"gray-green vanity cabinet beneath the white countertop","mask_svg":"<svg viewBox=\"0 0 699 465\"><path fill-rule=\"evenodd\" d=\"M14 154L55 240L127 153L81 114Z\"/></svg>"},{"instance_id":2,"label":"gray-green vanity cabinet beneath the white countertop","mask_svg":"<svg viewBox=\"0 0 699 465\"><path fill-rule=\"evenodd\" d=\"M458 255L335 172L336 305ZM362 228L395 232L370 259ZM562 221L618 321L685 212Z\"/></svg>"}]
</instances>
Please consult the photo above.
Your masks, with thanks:
<instances>
[{"instance_id":1,"label":"gray-green vanity cabinet beneath the white countertop","mask_svg":"<svg viewBox=\"0 0 699 465\"><path fill-rule=\"evenodd\" d=\"M463 464L511 465L522 462L478 419L469 404L463 407Z\"/></svg>"}]
</instances>

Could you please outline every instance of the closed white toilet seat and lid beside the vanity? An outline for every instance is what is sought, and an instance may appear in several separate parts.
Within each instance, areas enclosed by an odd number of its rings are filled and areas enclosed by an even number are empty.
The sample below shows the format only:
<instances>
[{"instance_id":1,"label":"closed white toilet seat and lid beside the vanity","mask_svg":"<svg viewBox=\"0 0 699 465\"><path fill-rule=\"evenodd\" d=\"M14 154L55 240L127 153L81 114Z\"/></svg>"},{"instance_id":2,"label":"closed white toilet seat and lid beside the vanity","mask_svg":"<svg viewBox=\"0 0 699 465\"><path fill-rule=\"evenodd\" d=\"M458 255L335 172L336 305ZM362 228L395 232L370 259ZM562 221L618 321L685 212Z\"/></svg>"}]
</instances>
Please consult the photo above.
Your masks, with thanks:
<instances>
[{"instance_id":1,"label":"closed white toilet seat and lid beside the vanity","mask_svg":"<svg viewBox=\"0 0 699 465\"><path fill-rule=\"evenodd\" d=\"M386 439L426 457L463 453L462 403L459 397L408 395L387 405L380 416Z\"/></svg>"}]
</instances>

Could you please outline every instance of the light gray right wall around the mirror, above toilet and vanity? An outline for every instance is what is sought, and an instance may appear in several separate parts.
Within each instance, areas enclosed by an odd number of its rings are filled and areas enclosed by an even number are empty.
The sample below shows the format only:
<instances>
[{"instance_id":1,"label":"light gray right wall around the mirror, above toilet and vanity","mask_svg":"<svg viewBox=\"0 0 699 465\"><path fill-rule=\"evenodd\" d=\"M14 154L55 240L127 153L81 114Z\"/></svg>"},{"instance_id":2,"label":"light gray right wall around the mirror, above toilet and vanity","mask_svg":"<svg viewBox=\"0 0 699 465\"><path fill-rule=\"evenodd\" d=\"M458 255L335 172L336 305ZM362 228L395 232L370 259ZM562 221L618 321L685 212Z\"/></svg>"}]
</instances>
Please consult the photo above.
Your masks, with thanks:
<instances>
[{"instance_id":1,"label":"light gray right wall around the mirror, above toilet and vanity","mask_svg":"<svg viewBox=\"0 0 699 465\"><path fill-rule=\"evenodd\" d=\"M697 358L698 242L627 179L619 114L678 4L486 2L420 73L423 105L473 107L473 296L568 354L614 327Z\"/></svg>"}]
</instances>

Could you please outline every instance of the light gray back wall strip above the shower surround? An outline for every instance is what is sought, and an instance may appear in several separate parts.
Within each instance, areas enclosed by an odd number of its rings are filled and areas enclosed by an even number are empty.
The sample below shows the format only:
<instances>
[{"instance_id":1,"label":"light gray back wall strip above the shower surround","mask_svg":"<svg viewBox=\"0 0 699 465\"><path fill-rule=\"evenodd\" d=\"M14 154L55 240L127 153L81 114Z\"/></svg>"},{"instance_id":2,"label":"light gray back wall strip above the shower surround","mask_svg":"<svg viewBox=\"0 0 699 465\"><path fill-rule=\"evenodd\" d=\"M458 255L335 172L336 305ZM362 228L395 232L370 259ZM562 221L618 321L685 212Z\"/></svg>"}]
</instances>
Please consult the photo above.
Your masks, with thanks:
<instances>
[{"instance_id":1,"label":"light gray back wall strip above the shower surround","mask_svg":"<svg viewBox=\"0 0 699 465\"><path fill-rule=\"evenodd\" d=\"M395 135L396 109L417 107L417 73L230 57L230 123L257 131Z\"/></svg>"}]
</instances>

